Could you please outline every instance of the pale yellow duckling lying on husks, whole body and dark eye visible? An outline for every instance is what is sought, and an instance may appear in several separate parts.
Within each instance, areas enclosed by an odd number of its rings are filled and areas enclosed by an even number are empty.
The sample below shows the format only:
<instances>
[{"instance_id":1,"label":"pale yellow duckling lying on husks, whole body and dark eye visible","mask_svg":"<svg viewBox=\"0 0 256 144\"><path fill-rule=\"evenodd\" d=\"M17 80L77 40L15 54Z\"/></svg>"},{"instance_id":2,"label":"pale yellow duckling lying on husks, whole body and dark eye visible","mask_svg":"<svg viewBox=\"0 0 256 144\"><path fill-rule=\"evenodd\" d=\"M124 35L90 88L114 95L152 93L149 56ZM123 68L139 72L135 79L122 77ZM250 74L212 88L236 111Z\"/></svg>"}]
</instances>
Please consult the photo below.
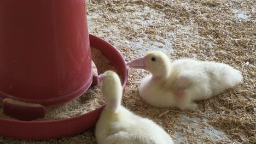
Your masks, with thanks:
<instances>
[{"instance_id":1,"label":"pale yellow duckling lying on husks, whole body and dark eye visible","mask_svg":"<svg viewBox=\"0 0 256 144\"><path fill-rule=\"evenodd\" d=\"M126 65L150 72L139 87L143 100L154 106L181 110L196 110L194 100L209 99L243 79L241 72L228 64L188 58L171 62L161 51L150 51Z\"/></svg>"}]
</instances>

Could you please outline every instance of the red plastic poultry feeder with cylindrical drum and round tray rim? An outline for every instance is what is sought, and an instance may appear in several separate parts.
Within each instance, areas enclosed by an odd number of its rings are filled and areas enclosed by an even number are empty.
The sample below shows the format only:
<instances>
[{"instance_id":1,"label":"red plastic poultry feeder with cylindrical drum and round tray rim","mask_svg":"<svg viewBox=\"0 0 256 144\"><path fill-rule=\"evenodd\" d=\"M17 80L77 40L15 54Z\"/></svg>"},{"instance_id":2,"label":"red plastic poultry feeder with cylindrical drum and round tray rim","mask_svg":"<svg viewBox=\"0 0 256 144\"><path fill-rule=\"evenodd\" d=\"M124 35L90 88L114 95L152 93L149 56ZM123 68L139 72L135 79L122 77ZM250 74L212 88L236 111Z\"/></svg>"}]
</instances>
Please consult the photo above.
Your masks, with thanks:
<instances>
[{"instance_id":1,"label":"red plastic poultry feeder with cylindrical drum and round tray rim","mask_svg":"<svg viewBox=\"0 0 256 144\"><path fill-rule=\"evenodd\" d=\"M45 105L82 95L92 84L90 46L117 68L124 88L124 58L106 41L89 35L84 0L0 0L0 98L5 114L32 120L43 117ZM102 108L54 121L0 118L0 135L46 140L77 134L94 127Z\"/></svg>"}]
</instances>

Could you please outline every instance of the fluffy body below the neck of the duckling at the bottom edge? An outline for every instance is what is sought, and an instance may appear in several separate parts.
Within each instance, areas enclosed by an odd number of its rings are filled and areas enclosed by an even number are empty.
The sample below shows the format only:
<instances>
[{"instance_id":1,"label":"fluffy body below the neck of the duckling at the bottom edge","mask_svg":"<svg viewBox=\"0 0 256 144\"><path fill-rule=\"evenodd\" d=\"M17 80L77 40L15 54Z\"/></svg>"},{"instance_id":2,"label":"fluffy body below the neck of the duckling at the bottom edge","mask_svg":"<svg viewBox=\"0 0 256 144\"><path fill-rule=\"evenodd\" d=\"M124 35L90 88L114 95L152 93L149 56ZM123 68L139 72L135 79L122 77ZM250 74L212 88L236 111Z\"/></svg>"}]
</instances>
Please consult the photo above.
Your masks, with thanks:
<instances>
[{"instance_id":1,"label":"fluffy body below the neck of the duckling at the bottom edge","mask_svg":"<svg viewBox=\"0 0 256 144\"><path fill-rule=\"evenodd\" d=\"M103 110L96 129L101 129L96 137L98 143L172 143L171 137L153 121L136 116L125 107L120 107L119 112L109 113ZM96 130L98 131L98 130Z\"/></svg>"}]
</instances>

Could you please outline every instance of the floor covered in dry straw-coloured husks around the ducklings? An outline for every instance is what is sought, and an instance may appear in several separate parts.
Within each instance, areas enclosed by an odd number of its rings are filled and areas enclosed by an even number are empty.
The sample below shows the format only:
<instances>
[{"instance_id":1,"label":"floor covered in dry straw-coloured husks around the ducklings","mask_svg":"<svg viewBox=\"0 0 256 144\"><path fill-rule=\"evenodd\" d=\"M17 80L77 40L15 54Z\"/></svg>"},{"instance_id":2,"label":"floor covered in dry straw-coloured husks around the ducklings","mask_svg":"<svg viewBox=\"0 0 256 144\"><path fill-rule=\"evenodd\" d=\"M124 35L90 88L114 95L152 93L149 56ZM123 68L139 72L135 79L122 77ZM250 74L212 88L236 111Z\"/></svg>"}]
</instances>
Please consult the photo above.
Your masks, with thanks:
<instances>
[{"instance_id":1,"label":"floor covered in dry straw-coloured husks around the ducklings","mask_svg":"<svg viewBox=\"0 0 256 144\"><path fill-rule=\"evenodd\" d=\"M242 71L241 85L199 101L195 112L159 109L138 97L146 72L130 70L123 105L164 127L175 143L256 143L255 1L90 0L89 32L112 43L126 61L148 50L230 64ZM0 143L96 143L94 130L49 141Z\"/></svg>"}]
</instances>

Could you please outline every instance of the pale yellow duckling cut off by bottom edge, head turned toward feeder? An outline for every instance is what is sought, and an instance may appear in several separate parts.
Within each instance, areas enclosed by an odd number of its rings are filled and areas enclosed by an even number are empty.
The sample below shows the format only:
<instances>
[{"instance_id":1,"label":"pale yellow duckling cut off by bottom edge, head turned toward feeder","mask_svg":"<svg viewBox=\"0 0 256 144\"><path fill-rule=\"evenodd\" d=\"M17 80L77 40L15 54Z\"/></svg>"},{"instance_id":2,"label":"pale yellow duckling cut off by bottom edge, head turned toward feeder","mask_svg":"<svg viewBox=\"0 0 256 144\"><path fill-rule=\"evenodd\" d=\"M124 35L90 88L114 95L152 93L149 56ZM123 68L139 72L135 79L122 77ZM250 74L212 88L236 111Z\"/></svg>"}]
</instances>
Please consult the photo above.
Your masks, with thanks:
<instances>
[{"instance_id":1,"label":"pale yellow duckling cut off by bottom edge, head turned toward feeder","mask_svg":"<svg viewBox=\"0 0 256 144\"><path fill-rule=\"evenodd\" d=\"M107 104L96 124L97 143L173 143L170 135L155 122L139 117L121 105L122 86L114 71L106 71L98 79Z\"/></svg>"}]
</instances>

